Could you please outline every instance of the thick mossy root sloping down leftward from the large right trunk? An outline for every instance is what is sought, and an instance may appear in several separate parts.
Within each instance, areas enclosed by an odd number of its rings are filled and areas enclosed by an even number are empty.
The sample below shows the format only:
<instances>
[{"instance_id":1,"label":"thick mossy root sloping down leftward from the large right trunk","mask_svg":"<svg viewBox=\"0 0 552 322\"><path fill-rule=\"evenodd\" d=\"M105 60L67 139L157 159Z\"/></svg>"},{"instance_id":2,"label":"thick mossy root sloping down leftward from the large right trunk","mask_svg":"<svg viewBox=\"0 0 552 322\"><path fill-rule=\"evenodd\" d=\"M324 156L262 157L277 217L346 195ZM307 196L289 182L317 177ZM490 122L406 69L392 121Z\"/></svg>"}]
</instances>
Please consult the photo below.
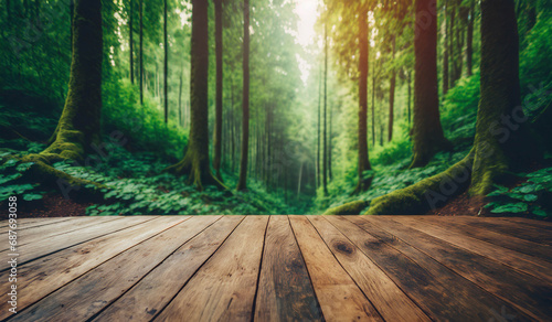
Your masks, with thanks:
<instances>
[{"instance_id":1,"label":"thick mossy root sloping down leftward from the large right trunk","mask_svg":"<svg viewBox=\"0 0 552 322\"><path fill-rule=\"evenodd\" d=\"M446 201L460 194L469 185L469 176L474 160L474 150L460 162L434 176L424 179L405 189L393 191L374 198L364 215L414 215L422 214L435 205L435 201ZM460 180L461 179L461 180ZM444 193L443 186L452 182L456 185Z\"/></svg>"}]
</instances>

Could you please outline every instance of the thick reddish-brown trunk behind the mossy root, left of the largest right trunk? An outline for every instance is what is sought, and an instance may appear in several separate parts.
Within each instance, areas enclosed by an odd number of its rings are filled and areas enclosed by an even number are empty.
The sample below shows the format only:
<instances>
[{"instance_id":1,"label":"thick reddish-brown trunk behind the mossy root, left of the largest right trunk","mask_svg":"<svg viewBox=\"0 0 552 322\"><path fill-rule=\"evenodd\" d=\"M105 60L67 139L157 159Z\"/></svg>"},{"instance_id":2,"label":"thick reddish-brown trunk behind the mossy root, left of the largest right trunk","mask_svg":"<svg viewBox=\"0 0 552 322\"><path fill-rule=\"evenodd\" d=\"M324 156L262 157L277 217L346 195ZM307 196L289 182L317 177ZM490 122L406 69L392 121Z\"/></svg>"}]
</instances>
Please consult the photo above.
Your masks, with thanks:
<instances>
[{"instance_id":1,"label":"thick reddish-brown trunk behind the mossy root, left of the largest right trunk","mask_svg":"<svg viewBox=\"0 0 552 322\"><path fill-rule=\"evenodd\" d=\"M416 0L414 40L414 126L411 168L426 165L433 155L450 148L440 126L437 92L437 17L435 0Z\"/></svg>"}]
</instances>

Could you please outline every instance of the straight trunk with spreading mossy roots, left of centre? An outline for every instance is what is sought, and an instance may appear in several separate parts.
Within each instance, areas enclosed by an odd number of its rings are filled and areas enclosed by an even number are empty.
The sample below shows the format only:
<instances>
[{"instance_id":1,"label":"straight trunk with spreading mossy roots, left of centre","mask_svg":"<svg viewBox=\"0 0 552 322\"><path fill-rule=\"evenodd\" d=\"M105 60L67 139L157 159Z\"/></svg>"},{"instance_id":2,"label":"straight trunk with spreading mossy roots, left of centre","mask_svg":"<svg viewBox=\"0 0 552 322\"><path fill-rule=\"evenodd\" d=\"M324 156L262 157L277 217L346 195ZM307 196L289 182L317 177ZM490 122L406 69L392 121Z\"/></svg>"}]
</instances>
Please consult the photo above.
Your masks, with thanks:
<instances>
[{"instance_id":1,"label":"straight trunk with spreading mossy roots, left of centre","mask_svg":"<svg viewBox=\"0 0 552 322\"><path fill-rule=\"evenodd\" d=\"M199 190L222 183L211 173L209 162L209 2L192 0L190 135L184 158L167 171L187 174Z\"/></svg>"}]
</instances>

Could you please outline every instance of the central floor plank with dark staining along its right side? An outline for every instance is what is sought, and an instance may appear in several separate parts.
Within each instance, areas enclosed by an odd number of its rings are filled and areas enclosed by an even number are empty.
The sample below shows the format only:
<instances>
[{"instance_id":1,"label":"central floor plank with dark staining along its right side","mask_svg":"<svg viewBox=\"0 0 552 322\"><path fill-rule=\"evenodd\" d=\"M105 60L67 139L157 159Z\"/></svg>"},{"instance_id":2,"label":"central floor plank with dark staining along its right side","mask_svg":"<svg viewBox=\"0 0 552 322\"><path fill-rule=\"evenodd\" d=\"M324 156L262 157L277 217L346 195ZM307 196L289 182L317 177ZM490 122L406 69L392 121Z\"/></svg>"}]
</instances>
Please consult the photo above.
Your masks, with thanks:
<instances>
[{"instance_id":1,"label":"central floor plank with dark staining along its right side","mask_svg":"<svg viewBox=\"0 0 552 322\"><path fill-rule=\"evenodd\" d=\"M272 216L265 238L255 321L322 321L287 216Z\"/></svg>"}]
</instances>

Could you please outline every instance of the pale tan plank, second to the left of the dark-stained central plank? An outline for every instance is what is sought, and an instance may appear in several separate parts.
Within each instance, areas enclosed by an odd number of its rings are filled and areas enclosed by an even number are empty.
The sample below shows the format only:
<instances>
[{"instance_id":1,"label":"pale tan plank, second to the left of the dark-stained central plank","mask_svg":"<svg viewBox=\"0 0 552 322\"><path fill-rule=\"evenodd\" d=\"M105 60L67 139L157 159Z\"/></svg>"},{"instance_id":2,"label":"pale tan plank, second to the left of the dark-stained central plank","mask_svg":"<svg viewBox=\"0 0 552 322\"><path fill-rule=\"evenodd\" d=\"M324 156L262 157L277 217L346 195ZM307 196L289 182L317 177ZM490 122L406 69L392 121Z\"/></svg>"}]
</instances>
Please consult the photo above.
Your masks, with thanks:
<instances>
[{"instance_id":1,"label":"pale tan plank, second to the left of the dark-stained central plank","mask_svg":"<svg viewBox=\"0 0 552 322\"><path fill-rule=\"evenodd\" d=\"M243 216L224 216L149 272L94 321L150 321L222 245Z\"/></svg>"}]
</instances>

